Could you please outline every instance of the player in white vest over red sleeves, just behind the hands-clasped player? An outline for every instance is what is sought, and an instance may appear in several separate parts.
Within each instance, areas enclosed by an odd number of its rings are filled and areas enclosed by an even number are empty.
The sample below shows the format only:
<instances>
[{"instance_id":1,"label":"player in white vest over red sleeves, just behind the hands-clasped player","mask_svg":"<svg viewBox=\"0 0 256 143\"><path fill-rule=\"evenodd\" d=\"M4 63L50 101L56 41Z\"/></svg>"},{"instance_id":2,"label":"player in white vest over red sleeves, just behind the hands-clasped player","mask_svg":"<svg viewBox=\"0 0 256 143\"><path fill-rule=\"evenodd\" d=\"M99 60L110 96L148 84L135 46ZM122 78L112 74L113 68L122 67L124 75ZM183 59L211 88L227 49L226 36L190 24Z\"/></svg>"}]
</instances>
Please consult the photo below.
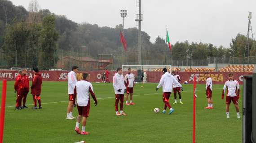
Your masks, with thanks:
<instances>
[{"instance_id":1,"label":"player in white vest over red sleeves, just behind the hands-clasped player","mask_svg":"<svg viewBox=\"0 0 256 143\"><path fill-rule=\"evenodd\" d=\"M128 74L124 77L124 82L126 86L126 96L125 96L125 105L135 105L132 102L133 86L134 86L134 75L131 68L128 68ZM130 94L130 103L128 103L128 96Z\"/></svg>"}]
</instances>

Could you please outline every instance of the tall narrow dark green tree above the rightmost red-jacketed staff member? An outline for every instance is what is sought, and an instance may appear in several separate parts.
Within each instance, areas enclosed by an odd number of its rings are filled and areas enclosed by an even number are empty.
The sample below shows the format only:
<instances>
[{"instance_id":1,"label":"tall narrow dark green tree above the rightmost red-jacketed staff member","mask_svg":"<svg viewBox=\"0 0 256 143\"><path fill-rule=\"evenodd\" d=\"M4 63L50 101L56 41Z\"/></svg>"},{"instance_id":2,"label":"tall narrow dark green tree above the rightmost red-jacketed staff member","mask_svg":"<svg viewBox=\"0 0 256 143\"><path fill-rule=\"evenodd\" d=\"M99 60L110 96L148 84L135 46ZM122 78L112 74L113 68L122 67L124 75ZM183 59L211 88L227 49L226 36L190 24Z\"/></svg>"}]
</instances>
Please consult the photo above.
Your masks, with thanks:
<instances>
[{"instance_id":1,"label":"tall narrow dark green tree above the rightmost red-jacketed staff member","mask_svg":"<svg viewBox=\"0 0 256 143\"><path fill-rule=\"evenodd\" d=\"M55 29L55 16L48 15L44 17L42 22L42 31L40 36L41 53L39 59L39 66L41 69L51 69L55 67L56 57L56 42L58 33Z\"/></svg>"}]
</instances>

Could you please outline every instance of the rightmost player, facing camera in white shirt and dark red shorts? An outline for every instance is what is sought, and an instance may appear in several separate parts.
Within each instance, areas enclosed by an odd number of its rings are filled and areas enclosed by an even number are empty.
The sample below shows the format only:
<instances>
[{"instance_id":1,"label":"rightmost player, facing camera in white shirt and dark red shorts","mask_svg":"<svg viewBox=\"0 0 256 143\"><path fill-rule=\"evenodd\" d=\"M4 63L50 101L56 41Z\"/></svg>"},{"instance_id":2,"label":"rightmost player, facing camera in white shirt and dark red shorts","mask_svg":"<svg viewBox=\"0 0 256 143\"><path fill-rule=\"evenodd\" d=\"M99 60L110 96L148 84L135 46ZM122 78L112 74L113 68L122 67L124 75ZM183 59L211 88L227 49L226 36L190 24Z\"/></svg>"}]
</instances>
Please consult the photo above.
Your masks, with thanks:
<instances>
[{"instance_id":1,"label":"rightmost player, facing camera in white shirt and dark red shorts","mask_svg":"<svg viewBox=\"0 0 256 143\"><path fill-rule=\"evenodd\" d=\"M236 112L237 112L237 118L240 119L239 115L239 107L238 107L238 99L239 99L239 93L240 93L240 88L239 88L239 83L237 80L234 80L234 75L233 73L229 74L229 80L225 82L221 99L224 99L224 93L227 88L227 93L226 93L226 114L227 118L230 118L229 114L229 109L230 109L230 103L233 101L233 104L235 106Z\"/></svg>"}]
</instances>

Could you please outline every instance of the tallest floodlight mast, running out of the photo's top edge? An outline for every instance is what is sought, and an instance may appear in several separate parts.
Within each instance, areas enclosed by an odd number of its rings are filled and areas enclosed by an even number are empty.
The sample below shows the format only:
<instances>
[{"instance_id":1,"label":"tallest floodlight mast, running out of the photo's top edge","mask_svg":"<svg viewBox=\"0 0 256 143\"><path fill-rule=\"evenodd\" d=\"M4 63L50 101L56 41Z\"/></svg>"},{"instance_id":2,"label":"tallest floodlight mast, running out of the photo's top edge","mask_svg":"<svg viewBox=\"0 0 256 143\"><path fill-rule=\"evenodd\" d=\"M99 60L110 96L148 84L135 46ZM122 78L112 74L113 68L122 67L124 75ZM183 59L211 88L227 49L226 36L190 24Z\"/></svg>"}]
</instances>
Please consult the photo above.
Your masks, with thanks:
<instances>
[{"instance_id":1,"label":"tallest floodlight mast, running out of the photo's top edge","mask_svg":"<svg viewBox=\"0 0 256 143\"><path fill-rule=\"evenodd\" d=\"M137 4L139 7L139 14L135 14L135 21L138 21L138 65L141 65L141 21L142 21L142 14L141 14L141 0L137 0Z\"/></svg>"}]
</instances>

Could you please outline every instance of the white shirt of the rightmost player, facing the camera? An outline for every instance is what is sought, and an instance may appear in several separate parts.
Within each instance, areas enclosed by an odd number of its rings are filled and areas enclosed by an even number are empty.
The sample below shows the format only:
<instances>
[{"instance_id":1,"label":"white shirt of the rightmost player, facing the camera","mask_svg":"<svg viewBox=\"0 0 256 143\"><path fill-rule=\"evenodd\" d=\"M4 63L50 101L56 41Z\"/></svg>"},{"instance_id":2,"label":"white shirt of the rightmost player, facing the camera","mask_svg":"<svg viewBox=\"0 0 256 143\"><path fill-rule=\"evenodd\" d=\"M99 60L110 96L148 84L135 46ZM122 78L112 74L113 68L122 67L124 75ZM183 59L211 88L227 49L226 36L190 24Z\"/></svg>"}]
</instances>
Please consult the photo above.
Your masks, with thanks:
<instances>
[{"instance_id":1,"label":"white shirt of the rightmost player, facing the camera","mask_svg":"<svg viewBox=\"0 0 256 143\"><path fill-rule=\"evenodd\" d=\"M236 91L239 90L239 83L237 80L228 80L224 84L223 93L225 93L226 88L228 88L227 92L229 97L236 97Z\"/></svg>"}]
</instances>

